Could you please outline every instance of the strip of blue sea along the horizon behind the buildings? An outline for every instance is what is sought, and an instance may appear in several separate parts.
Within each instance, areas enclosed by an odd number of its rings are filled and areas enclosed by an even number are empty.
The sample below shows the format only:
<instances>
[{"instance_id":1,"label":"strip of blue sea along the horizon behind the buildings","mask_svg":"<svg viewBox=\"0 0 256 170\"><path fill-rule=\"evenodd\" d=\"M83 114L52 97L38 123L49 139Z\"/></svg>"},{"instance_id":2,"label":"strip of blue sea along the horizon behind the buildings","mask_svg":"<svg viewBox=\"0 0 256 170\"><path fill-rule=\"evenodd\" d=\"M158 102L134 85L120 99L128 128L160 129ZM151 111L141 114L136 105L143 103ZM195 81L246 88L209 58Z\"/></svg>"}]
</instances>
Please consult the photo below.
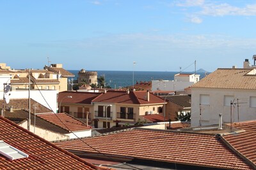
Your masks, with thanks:
<instances>
[{"instance_id":1,"label":"strip of blue sea along the horizon behind the buildings","mask_svg":"<svg viewBox=\"0 0 256 170\"><path fill-rule=\"evenodd\" d=\"M79 70L68 71L73 73L75 75L73 79L77 80ZM106 85L109 85L112 89L118 89L120 87L132 86L136 81L174 80L174 75L178 74L179 71L97 71L97 73L98 78L101 75L105 76ZM196 74L200 74L200 79L205 76L205 73Z\"/></svg>"}]
</instances>

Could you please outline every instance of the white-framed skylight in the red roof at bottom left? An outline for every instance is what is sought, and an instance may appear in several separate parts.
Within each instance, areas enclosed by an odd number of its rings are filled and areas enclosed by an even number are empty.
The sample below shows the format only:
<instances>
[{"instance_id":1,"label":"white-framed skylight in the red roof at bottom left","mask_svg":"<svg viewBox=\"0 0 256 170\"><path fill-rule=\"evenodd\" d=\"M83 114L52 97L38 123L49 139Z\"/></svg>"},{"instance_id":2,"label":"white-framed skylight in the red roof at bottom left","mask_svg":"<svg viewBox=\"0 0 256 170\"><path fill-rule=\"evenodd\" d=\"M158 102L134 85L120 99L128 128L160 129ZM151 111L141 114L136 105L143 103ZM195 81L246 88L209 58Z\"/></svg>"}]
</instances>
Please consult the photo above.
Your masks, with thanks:
<instances>
[{"instance_id":1,"label":"white-framed skylight in the red roof at bottom left","mask_svg":"<svg viewBox=\"0 0 256 170\"><path fill-rule=\"evenodd\" d=\"M12 160L28 157L28 154L8 145L4 141L0 141L0 154Z\"/></svg>"}]
</instances>

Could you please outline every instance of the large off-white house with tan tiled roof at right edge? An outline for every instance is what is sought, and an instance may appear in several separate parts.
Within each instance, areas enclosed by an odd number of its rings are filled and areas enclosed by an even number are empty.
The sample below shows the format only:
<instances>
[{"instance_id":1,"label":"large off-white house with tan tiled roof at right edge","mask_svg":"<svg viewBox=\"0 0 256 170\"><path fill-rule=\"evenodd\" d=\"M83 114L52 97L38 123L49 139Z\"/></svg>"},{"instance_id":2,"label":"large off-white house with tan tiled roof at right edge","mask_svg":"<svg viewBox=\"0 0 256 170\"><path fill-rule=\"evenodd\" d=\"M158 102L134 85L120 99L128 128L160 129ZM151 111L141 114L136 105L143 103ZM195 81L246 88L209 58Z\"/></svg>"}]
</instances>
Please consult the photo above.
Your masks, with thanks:
<instances>
[{"instance_id":1,"label":"large off-white house with tan tiled roof at right edge","mask_svg":"<svg viewBox=\"0 0 256 170\"><path fill-rule=\"evenodd\" d=\"M256 69L217 69L191 86L191 126L256 119Z\"/></svg>"}]
</instances>

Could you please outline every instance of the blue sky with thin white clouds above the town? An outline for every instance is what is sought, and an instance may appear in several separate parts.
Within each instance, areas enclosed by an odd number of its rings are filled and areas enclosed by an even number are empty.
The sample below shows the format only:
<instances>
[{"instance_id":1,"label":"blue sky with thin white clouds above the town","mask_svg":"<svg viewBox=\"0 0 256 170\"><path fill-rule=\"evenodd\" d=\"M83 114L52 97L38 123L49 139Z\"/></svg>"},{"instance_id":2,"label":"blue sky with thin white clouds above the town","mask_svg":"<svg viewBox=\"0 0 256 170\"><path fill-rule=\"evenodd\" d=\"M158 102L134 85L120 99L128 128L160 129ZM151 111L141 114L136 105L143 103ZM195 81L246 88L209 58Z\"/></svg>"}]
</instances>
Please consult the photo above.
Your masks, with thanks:
<instances>
[{"instance_id":1,"label":"blue sky with thin white clouds above the town","mask_svg":"<svg viewBox=\"0 0 256 170\"><path fill-rule=\"evenodd\" d=\"M0 1L0 62L15 69L49 60L76 70L193 71L196 60L211 72L253 64L254 54L256 1Z\"/></svg>"}]
</instances>

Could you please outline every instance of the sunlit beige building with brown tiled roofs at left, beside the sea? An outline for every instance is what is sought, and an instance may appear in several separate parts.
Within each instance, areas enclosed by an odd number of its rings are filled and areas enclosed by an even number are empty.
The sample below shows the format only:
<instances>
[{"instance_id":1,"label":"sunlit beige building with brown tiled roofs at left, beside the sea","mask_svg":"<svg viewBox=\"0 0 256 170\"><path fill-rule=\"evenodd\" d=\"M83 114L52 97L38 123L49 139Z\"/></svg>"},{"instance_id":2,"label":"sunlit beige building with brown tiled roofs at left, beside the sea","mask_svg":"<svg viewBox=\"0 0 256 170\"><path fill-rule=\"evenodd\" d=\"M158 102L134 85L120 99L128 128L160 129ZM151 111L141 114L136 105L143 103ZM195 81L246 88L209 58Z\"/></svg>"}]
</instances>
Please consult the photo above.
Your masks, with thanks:
<instances>
[{"instance_id":1,"label":"sunlit beige building with brown tiled roofs at left, beside the sea","mask_svg":"<svg viewBox=\"0 0 256 170\"><path fill-rule=\"evenodd\" d=\"M59 92L67 90L67 79L74 74L62 68L62 64L51 64L44 69L10 69L6 64L0 64L0 74L11 75L13 89L28 89L29 71L31 73L31 89L58 90Z\"/></svg>"}]
</instances>

